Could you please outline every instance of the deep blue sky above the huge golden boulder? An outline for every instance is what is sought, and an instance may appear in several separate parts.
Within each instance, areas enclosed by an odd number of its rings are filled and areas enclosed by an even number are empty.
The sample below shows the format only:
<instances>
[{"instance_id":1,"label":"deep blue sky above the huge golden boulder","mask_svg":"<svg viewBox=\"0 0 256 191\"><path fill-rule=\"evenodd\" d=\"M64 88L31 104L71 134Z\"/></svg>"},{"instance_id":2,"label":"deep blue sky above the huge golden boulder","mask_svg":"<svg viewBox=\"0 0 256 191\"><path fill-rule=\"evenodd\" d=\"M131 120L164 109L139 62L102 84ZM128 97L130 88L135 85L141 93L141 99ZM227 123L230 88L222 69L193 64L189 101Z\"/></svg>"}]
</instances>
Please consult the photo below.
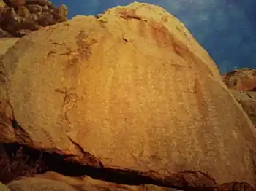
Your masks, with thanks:
<instances>
[{"instance_id":1,"label":"deep blue sky above the huge golden boulder","mask_svg":"<svg viewBox=\"0 0 256 191\"><path fill-rule=\"evenodd\" d=\"M132 0L53 0L66 4L69 18L96 15ZM256 68L256 0L144 0L180 19L223 73Z\"/></svg>"}]
</instances>

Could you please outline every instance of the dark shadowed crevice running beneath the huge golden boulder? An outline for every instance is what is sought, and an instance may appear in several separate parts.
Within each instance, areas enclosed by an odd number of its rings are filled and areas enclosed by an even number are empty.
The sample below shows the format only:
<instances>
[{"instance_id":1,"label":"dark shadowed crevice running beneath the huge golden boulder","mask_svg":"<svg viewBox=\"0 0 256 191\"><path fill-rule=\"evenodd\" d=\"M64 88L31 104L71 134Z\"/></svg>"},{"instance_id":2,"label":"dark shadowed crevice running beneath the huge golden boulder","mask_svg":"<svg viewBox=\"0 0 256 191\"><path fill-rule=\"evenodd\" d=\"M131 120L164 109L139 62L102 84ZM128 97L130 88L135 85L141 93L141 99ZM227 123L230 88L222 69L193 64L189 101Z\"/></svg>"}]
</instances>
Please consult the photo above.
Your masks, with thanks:
<instances>
[{"instance_id":1,"label":"dark shadowed crevice running beneath the huge golden boulder","mask_svg":"<svg viewBox=\"0 0 256 191\"><path fill-rule=\"evenodd\" d=\"M90 176L93 179L116 184L154 184L160 187L171 187L179 190L253 190L246 182L231 182L218 185L213 178L200 171L181 171L163 178L158 176L157 172L153 171L138 172L124 169L85 166L68 161L69 155L44 152L38 149L31 149L21 144L4 144L4 148L9 157L17 152L20 147L22 147L23 154L29 156L28 164L35 163L41 156L41 163L39 164L42 165L43 168L40 168L37 174L43 174L46 171L55 171L65 176Z\"/></svg>"}]
</instances>

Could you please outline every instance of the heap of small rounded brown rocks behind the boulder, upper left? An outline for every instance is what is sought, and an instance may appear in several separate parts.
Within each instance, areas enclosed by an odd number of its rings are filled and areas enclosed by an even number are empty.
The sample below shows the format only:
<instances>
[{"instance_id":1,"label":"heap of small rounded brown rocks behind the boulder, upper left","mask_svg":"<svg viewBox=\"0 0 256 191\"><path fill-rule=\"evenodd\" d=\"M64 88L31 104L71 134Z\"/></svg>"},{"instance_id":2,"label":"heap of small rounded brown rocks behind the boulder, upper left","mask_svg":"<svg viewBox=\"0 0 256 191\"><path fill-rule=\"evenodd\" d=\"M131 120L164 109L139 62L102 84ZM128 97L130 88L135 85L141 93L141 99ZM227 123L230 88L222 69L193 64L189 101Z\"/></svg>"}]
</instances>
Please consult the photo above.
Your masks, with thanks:
<instances>
[{"instance_id":1,"label":"heap of small rounded brown rocks behind the boulder, upper left","mask_svg":"<svg viewBox=\"0 0 256 191\"><path fill-rule=\"evenodd\" d=\"M47 0L1 0L0 37L21 37L67 20L67 7Z\"/></svg>"}]
</instances>

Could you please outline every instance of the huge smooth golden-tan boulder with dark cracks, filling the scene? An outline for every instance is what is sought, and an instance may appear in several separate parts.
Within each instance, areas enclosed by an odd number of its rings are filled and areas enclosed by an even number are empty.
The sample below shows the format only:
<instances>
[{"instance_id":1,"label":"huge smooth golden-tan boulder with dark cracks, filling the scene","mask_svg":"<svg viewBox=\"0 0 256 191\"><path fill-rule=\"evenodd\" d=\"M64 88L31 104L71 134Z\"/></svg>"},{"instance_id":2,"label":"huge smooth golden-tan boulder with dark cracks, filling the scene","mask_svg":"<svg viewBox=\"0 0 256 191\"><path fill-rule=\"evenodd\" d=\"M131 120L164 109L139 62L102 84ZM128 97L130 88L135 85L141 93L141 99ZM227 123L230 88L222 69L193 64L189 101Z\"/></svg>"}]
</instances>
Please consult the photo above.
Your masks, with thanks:
<instances>
[{"instance_id":1,"label":"huge smooth golden-tan boulder with dark cracks, filling the scene","mask_svg":"<svg viewBox=\"0 0 256 191\"><path fill-rule=\"evenodd\" d=\"M1 64L0 141L158 182L189 170L255 184L252 122L161 7L135 2L42 28Z\"/></svg>"}]
</instances>

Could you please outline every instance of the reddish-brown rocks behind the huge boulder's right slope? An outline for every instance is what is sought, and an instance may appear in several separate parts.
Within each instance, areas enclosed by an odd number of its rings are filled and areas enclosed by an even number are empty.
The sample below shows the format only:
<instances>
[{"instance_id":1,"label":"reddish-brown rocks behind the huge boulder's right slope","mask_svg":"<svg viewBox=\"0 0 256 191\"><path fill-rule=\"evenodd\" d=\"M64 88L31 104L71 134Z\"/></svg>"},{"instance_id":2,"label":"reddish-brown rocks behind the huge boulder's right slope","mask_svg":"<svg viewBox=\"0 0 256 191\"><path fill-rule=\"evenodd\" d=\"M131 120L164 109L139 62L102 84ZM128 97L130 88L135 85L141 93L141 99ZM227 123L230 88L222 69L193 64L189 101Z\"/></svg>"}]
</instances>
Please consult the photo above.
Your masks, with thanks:
<instances>
[{"instance_id":1,"label":"reddish-brown rocks behind the huge boulder's right slope","mask_svg":"<svg viewBox=\"0 0 256 191\"><path fill-rule=\"evenodd\" d=\"M237 69L222 78L256 127L256 69Z\"/></svg>"}]
</instances>

